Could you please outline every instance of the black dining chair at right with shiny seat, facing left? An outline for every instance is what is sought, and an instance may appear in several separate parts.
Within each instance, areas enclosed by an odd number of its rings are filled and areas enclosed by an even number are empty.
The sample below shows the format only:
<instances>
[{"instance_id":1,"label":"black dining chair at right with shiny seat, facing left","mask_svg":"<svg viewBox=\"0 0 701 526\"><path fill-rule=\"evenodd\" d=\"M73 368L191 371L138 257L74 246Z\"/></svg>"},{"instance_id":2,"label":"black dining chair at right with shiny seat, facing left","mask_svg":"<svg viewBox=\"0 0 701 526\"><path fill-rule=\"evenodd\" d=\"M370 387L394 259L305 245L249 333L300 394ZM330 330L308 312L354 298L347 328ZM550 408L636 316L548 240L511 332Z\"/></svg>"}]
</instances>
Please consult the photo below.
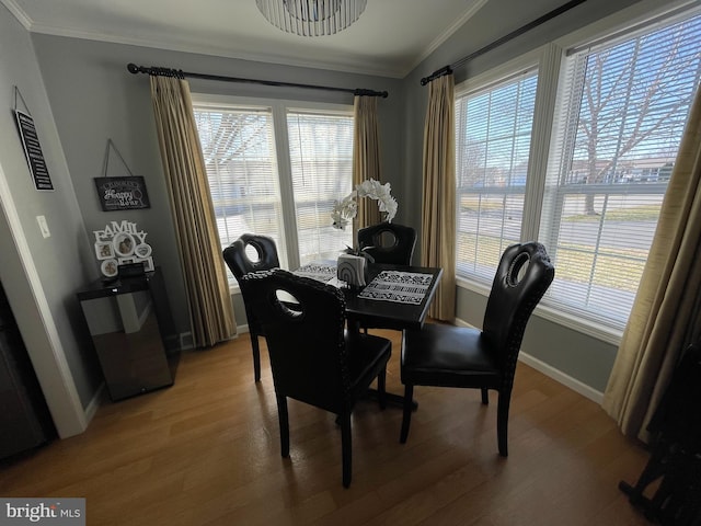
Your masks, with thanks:
<instances>
[{"instance_id":1,"label":"black dining chair at right with shiny seat, facing left","mask_svg":"<svg viewBox=\"0 0 701 526\"><path fill-rule=\"evenodd\" d=\"M406 330L402 341L401 379L404 414L400 442L412 418L414 386L460 387L498 393L496 433L499 455L508 455L508 410L516 361L528 320L553 281L555 268L538 242L517 243L502 254L487 299L482 330L427 323Z\"/></svg>"}]
</instances>

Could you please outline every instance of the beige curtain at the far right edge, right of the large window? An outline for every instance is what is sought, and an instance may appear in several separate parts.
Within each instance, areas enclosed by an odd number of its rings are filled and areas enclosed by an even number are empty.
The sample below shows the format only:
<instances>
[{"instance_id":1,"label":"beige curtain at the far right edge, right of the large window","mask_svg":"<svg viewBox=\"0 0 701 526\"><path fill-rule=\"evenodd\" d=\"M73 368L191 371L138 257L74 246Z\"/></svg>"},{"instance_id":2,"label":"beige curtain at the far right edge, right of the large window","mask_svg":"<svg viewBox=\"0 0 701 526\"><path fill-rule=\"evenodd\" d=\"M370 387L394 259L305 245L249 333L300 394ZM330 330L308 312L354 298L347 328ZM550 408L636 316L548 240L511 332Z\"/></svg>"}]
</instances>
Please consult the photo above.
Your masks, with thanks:
<instances>
[{"instance_id":1,"label":"beige curtain at the far right edge, right of the large window","mask_svg":"<svg viewBox=\"0 0 701 526\"><path fill-rule=\"evenodd\" d=\"M701 302L701 95L685 130L630 320L604 396L621 431L645 427L683 348L699 338Z\"/></svg>"}]
</instances>

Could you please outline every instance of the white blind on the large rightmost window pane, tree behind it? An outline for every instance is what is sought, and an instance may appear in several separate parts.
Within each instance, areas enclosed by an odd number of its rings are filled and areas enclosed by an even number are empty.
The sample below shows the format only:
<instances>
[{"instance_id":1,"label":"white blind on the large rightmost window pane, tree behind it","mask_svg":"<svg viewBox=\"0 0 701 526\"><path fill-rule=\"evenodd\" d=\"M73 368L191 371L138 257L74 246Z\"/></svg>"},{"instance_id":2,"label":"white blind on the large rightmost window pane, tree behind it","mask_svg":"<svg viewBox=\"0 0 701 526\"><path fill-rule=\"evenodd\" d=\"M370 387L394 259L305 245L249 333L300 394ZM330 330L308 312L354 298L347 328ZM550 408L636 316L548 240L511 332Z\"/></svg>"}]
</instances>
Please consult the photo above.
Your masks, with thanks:
<instances>
[{"instance_id":1,"label":"white blind on the large rightmost window pane, tree behind it","mask_svg":"<svg viewBox=\"0 0 701 526\"><path fill-rule=\"evenodd\" d=\"M701 18L570 53L540 238L542 304L623 329L701 77Z\"/></svg>"}]
</instances>

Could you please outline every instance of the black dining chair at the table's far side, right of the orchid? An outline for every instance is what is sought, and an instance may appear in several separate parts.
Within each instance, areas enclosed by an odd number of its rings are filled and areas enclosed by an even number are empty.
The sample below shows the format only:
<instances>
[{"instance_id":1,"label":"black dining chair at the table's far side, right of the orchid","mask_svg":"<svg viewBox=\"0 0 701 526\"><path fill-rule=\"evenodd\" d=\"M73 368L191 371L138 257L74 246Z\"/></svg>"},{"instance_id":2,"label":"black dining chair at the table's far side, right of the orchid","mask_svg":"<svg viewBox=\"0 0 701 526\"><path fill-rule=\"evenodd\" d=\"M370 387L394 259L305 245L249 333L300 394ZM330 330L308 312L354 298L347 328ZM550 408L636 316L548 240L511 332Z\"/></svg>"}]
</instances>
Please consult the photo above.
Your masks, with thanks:
<instances>
[{"instance_id":1,"label":"black dining chair at the table's far side, right of the orchid","mask_svg":"<svg viewBox=\"0 0 701 526\"><path fill-rule=\"evenodd\" d=\"M395 222L380 222L358 230L358 248L376 263L411 265L416 230Z\"/></svg>"}]
</instances>

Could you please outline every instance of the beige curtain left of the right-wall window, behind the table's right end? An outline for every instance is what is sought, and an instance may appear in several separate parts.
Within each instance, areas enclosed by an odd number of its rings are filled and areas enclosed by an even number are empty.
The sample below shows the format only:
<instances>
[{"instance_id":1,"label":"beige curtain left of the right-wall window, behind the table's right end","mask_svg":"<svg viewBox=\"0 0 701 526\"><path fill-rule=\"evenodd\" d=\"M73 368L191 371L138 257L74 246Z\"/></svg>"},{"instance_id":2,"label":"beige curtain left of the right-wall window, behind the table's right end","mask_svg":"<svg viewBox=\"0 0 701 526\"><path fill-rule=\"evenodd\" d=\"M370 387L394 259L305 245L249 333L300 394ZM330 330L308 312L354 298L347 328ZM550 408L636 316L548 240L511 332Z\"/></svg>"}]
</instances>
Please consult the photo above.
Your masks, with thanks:
<instances>
[{"instance_id":1,"label":"beige curtain left of the right-wall window, behind the table's right end","mask_svg":"<svg viewBox=\"0 0 701 526\"><path fill-rule=\"evenodd\" d=\"M443 267L428 315L444 321L456 316L456 137L455 81L439 77L428 88L424 129L422 255L424 266Z\"/></svg>"}]
</instances>

